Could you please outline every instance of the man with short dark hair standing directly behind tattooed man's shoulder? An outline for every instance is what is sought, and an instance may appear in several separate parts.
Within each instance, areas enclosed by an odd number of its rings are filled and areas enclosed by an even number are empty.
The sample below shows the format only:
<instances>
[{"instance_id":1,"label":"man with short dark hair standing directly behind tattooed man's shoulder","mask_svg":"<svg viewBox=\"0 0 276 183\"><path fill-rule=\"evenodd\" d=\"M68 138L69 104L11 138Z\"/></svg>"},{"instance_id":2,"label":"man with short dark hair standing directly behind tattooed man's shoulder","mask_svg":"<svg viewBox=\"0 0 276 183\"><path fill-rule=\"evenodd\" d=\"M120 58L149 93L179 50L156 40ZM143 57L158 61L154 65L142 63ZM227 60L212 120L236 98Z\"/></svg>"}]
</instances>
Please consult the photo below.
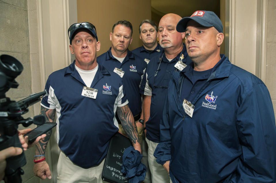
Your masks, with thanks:
<instances>
[{"instance_id":1,"label":"man with short dark hair standing directly behind tattooed man's shoulder","mask_svg":"<svg viewBox=\"0 0 276 183\"><path fill-rule=\"evenodd\" d=\"M128 105L134 116L140 143L143 137L143 124L139 122L142 111L142 100L139 93L140 83L146 70L146 62L128 50L132 42L132 25L129 21L116 22L110 33L111 48L97 57L97 62L110 72L117 73L122 79ZM119 122L119 120L118 120ZM119 132L125 134L119 122Z\"/></svg>"}]
</instances>

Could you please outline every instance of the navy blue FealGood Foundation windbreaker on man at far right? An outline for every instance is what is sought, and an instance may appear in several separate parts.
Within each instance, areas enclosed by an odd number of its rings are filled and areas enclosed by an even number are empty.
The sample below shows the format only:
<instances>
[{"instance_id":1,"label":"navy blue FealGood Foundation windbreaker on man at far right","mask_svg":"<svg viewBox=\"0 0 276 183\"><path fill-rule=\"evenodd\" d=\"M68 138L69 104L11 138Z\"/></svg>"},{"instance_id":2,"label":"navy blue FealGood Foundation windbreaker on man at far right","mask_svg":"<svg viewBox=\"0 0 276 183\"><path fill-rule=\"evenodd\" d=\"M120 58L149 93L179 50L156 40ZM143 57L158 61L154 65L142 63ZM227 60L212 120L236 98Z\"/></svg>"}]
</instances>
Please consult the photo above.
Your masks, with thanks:
<instances>
[{"instance_id":1,"label":"navy blue FealGood Foundation windbreaker on man at far right","mask_svg":"<svg viewBox=\"0 0 276 183\"><path fill-rule=\"evenodd\" d=\"M276 180L276 127L264 83L221 55L206 84L182 107L180 85L187 66L172 72L154 156L170 160L173 182L270 182ZM210 102L209 102L210 101Z\"/></svg>"}]
</instances>

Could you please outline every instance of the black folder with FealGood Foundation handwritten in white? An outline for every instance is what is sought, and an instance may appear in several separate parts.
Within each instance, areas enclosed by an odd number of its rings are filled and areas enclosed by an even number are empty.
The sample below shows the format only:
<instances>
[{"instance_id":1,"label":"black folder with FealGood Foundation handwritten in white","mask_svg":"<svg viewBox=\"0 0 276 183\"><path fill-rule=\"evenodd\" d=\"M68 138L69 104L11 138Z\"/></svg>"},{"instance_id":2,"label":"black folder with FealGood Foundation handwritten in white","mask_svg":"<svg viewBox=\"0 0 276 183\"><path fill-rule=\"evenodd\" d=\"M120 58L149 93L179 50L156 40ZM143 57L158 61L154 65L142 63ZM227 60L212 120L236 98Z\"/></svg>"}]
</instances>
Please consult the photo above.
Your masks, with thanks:
<instances>
[{"instance_id":1,"label":"black folder with FealGood Foundation handwritten in white","mask_svg":"<svg viewBox=\"0 0 276 183\"><path fill-rule=\"evenodd\" d=\"M117 132L111 138L107 155L102 169L102 180L113 183L128 182L125 174L121 173L123 154L127 147L132 146L130 139Z\"/></svg>"}]
</instances>

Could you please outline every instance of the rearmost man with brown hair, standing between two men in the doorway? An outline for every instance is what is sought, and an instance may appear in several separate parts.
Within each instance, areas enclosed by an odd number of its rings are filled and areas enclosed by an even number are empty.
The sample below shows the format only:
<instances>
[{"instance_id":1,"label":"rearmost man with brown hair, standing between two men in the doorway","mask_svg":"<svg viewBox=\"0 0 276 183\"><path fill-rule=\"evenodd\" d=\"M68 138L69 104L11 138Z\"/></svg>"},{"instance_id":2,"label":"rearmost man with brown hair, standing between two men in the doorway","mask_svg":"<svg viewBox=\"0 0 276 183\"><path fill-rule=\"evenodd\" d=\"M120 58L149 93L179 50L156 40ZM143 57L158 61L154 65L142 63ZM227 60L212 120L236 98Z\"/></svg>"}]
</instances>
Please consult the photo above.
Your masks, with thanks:
<instances>
[{"instance_id":1,"label":"rearmost man with brown hair, standing between two men in the doorway","mask_svg":"<svg viewBox=\"0 0 276 183\"><path fill-rule=\"evenodd\" d=\"M139 26L139 33L143 45L131 52L140 56L148 64L151 58L163 51L163 48L157 43L157 26L151 20L143 20Z\"/></svg>"}]
</instances>

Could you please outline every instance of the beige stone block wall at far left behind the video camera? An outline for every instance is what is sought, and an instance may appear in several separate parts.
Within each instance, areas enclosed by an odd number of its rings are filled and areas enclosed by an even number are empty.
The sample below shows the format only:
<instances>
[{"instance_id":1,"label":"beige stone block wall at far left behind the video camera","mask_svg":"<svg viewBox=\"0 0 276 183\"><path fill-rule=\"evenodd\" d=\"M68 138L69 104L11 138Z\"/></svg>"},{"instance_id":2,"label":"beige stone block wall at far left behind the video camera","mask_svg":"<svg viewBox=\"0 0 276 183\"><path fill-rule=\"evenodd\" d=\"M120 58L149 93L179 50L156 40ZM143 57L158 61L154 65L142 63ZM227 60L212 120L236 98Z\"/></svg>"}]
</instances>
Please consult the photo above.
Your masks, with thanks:
<instances>
[{"instance_id":1,"label":"beige stone block wall at far left behind the video camera","mask_svg":"<svg viewBox=\"0 0 276 183\"><path fill-rule=\"evenodd\" d=\"M42 91L36 7L36 1L0 1L0 55L14 56L24 67L23 72L15 79L19 83L18 88L11 88L6 93L7 97L15 101ZM35 106L37 108L39 103ZM33 117L35 114L37 112L34 112L34 106L31 106L29 112L23 117ZM35 125L29 127L35 128ZM19 125L19 129L24 128ZM24 183L39 182L39 178L33 174L34 154L35 149L33 147L25 151L27 164L22 167L25 172L22 175Z\"/></svg>"}]
</instances>

